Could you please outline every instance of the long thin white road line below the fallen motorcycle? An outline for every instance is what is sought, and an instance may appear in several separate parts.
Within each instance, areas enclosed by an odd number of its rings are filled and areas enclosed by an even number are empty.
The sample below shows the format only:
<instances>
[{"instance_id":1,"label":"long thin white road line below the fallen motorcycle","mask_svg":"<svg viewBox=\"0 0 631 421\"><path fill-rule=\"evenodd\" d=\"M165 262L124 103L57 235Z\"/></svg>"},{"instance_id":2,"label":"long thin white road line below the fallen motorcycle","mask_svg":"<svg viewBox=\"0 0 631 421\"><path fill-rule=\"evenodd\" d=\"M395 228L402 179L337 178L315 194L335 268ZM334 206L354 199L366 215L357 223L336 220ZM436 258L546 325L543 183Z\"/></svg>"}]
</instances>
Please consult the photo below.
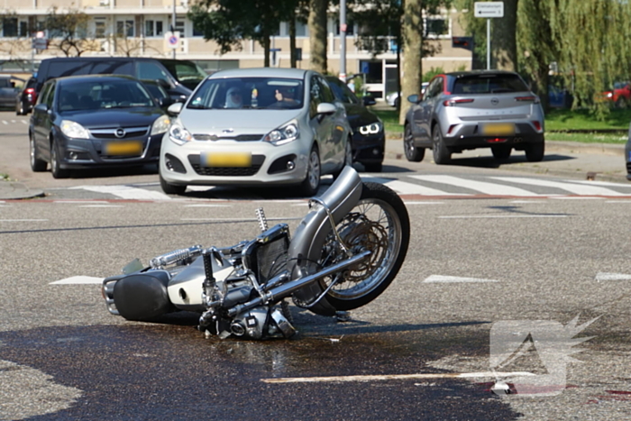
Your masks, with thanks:
<instances>
[{"instance_id":1,"label":"long thin white road line below the fallen motorcycle","mask_svg":"<svg viewBox=\"0 0 631 421\"><path fill-rule=\"evenodd\" d=\"M331 377L279 377L276 379L261 379L263 383L326 383L345 381L376 381L376 380L413 380L413 379L480 379L498 377L535 376L528 371L480 371L462 373L419 373L419 374L381 374L365 376L331 376Z\"/></svg>"}]
</instances>

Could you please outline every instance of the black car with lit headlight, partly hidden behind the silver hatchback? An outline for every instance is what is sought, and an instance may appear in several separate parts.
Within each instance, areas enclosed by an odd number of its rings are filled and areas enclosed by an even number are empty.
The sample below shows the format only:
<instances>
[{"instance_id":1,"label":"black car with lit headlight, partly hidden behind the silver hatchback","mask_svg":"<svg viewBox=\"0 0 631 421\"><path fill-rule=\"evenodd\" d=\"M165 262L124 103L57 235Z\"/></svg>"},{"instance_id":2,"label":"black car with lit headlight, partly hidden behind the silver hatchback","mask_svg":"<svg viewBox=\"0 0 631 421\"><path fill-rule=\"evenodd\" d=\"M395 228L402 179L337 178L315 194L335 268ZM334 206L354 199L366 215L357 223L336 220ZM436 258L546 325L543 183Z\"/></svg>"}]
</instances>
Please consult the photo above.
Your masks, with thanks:
<instances>
[{"instance_id":1,"label":"black car with lit headlight, partly hidden behind the silver hatchback","mask_svg":"<svg viewBox=\"0 0 631 421\"><path fill-rule=\"evenodd\" d=\"M366 108L366 105L374 105L375 99L371 96L358 98L342 80L334 76L329 76L326 80L336 99L346 108L346 117L352 128L353 162L360 162L367 171L380 172L386 148L386 133L380 118Z\"/></svg>"}]
</instances>

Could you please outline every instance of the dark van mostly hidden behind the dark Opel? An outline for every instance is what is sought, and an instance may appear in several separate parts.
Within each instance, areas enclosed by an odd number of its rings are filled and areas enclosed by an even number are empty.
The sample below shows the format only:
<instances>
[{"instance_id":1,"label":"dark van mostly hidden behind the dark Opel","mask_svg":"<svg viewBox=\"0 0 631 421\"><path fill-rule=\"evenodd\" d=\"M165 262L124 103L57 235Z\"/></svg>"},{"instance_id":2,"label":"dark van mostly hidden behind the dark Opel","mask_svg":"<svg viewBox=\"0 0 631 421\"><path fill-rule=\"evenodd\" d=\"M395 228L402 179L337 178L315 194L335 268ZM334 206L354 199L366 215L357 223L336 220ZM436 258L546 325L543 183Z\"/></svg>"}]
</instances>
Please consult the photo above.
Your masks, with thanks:
<instances>
[{"instance_id":1,"label":"dark van mostly hidden behind the dark Opel","mask_svg":"<svg viewBox=\"0 0 631 421\"><path fill-rule=\"evenodd\" d=\"M35 92L50 78L79 75L128 75L161 80L173 101L185 101L206 72L189 60L140 57L61 57L41 60Z\"/></svg>"}]
</instances>

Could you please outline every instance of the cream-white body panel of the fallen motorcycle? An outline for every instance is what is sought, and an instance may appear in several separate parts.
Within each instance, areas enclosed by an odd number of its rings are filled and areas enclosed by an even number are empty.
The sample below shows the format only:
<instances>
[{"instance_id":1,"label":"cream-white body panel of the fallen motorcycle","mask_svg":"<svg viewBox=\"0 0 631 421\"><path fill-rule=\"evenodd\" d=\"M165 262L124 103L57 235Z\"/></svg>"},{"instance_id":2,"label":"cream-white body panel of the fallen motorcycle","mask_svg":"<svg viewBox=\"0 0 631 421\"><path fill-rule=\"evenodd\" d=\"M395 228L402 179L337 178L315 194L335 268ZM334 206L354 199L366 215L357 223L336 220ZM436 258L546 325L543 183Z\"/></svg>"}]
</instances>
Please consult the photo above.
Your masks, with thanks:
<instances>
[{"instance_id":1,"label":"cream-white body panel of the fallen motorcycle","mask_svg":"<svg viewBox=\"0 0 631 421\"><path fill-rule=\"evenodd\" d=\"M234 270L227 261L220 266L215 259L213 262L213 277L215 280L226 279ZM202 284L206 279L204 259L198 257L185 270L179 272L169 281L169 299L175 307L187 311L205 311L202 302Z\"/></svg>"}]
</instances>

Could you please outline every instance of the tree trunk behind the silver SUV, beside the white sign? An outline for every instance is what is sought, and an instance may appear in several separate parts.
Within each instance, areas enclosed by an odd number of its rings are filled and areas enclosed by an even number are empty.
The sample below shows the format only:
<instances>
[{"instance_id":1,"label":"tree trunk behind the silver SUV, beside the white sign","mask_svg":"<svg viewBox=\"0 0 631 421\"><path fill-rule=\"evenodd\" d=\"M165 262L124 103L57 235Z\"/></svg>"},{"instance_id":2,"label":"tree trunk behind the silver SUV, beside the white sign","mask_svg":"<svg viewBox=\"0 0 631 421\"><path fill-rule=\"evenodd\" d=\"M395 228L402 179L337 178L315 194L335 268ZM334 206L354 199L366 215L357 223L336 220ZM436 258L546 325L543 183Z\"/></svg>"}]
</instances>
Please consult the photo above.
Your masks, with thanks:
<instances>
[{"instance_id":1,"label":"tree trunk behind the silver SUV, beside the white sign","mask_svg":"<svg viewBox=\"0 0 631 421\"><path fill-rule=\"evenodd\" d=\"M495 69L517 71L517 2L504 1L504 17L491 19L491 51L495 52ZM495 44L495 45L493 45Z\"/></svg>"}]
</instances>

